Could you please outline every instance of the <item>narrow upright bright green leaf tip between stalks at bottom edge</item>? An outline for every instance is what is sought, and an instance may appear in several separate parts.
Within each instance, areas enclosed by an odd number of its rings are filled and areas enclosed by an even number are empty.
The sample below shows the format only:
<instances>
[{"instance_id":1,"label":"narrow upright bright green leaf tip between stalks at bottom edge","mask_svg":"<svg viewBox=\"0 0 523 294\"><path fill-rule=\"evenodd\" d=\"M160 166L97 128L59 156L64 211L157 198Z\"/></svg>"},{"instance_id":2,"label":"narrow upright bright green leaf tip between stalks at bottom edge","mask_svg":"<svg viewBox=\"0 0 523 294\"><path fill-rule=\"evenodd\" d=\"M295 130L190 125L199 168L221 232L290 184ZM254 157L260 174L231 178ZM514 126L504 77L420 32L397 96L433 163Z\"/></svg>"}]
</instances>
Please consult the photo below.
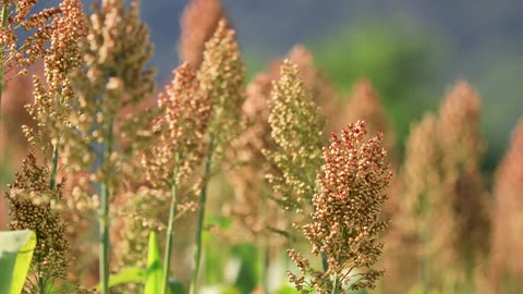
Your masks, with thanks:
<instances>
[{"instance_id":1,"label":"narrow upright bright green leaf tip between stalks at bottom edge","mask_svg":"<svg viewBox=\"0 0 523 294\"><path fill-rule=\"evenodd\" d=\"M145 294L162 293L162 274L160 250L158 249L158 240L156 232L149 234L149 247L147 253L147 280L145 282ZM168 289L170 294L170 290Z\"/></svg>"}]
</instances>

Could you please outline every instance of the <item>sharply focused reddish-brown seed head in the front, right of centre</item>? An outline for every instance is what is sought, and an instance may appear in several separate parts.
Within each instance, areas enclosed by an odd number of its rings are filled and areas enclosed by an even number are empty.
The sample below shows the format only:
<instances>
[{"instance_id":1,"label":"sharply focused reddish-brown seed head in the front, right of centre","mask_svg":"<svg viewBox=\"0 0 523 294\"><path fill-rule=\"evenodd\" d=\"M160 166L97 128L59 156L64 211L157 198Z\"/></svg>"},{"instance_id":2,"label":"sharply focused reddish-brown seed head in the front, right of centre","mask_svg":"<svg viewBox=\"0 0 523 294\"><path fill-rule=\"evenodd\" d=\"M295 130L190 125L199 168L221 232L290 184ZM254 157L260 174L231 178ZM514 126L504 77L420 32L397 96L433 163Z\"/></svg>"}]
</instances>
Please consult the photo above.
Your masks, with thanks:
<instances>
[{"instance_id":1,"label":"sharply focused reddish-brown seed head in the front, right of centre","mask_svg":"<svg viewBox=\"0 0 523 294\"><path fill-rule=\"evenodd\" d=\"M373 267L382 249L378 235L388 225L379 215L392 170L385 161L381 133L368 140L365 135L365 123L357 121L342 130L340 137L332 133L332 143L324 148L325 164L318 173L321 189L313 198L313 221L303 231L312 253L325 254L329 266L326 272L314 270L303 255L289 249L301 275L288 274L299 290L330 293L333 283L337 291L345 285L373 289L382 274ZM308 282L306 273L312 275Z\"/></svg>"}]
</instances>

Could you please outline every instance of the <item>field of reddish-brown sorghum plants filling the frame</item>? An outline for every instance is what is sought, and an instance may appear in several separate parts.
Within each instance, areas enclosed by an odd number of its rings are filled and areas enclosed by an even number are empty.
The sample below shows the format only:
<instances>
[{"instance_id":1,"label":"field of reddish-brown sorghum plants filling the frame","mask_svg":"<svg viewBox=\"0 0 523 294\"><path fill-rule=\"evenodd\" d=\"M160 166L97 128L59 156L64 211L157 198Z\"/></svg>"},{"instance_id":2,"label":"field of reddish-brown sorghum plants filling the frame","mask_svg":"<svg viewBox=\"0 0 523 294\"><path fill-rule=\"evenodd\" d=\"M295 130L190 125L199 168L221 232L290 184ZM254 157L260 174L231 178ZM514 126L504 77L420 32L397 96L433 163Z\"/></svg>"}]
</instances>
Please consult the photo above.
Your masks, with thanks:
<instances>
[{"instance_id":1,"label":"field of reddish-brown sorghum plants filling the frame","mask_svg":"<svg viewBox=\"0 0 523 294\"><path fill-rule=\"evenodd\" d=\"M258 66L190 0L159 83L148 1L1 2L0 294L523 293L523 117L490 156L464 78L430 105L332 44ZM373 34L353 64L416 60Z\"/></svg>"}]
</instances>

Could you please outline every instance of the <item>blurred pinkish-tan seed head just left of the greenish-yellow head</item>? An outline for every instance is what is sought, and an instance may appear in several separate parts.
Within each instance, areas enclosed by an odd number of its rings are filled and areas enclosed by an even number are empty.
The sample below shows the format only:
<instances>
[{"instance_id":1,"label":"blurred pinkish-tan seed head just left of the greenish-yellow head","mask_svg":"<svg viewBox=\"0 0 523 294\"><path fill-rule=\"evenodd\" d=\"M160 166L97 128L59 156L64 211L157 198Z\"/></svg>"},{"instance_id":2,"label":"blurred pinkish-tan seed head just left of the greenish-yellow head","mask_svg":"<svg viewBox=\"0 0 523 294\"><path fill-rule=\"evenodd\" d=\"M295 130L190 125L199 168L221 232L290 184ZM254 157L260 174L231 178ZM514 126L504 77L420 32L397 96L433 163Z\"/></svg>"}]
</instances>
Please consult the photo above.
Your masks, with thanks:
<instances>
[{"instance_id":1,"label":"blurred pinkish-tan seed head just left of the greenish-yellow head","mask_svg":"<svg viewBox=\"0 0 523 294\"><path fill-rule=\"evenodd\" d=\"M223 206L224 216L234 221L232 234L244 232L247 240L266 235L266 226L284 226L280 211L273 201L268 199L268 186L265 175L271 170L270 162L263 155L264 149L273 149L275 142L270 136L268 118L271 81L278 75L268 71L253 78L246 88L247 98L242 108L246 130L233 142L230 157L240 162L231 169L230 181L234 189L234 201ZM277 238L270 242L276 244Z\"/></svg>"}]
</instances>

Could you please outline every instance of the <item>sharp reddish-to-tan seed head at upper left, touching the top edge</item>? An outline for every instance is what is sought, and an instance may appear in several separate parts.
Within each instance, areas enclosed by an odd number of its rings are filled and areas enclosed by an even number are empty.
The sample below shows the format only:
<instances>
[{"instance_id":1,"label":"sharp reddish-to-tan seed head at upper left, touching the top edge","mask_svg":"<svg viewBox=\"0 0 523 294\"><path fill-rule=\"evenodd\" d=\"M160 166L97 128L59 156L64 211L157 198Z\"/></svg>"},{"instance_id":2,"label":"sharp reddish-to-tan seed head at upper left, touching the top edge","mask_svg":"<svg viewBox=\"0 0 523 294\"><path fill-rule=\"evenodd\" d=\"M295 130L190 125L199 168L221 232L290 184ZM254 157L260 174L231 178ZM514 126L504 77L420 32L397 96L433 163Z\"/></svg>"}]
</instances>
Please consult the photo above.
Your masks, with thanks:
<instances>
[{"instance_id":1,"label":"sharp reddish-to-tan seed head at upper left, touching the top edge","mask_svg":"<svg viewBox=\"0 0 523 294\"><path fill-rule=\"evenodd\" d=\"M61 15L52 22L50 48L45 57L47 88L39 77L33 77L33 105L26 110L37 122L37 128L26 125L23 131L28 142L50 156L50 146L65 142L65 130L70 128L70 101L74 90L69 74L82 64L78 42L86 36L85 15L80 0L64 0L60 4Z\"/></svg>"}]
</instances>

